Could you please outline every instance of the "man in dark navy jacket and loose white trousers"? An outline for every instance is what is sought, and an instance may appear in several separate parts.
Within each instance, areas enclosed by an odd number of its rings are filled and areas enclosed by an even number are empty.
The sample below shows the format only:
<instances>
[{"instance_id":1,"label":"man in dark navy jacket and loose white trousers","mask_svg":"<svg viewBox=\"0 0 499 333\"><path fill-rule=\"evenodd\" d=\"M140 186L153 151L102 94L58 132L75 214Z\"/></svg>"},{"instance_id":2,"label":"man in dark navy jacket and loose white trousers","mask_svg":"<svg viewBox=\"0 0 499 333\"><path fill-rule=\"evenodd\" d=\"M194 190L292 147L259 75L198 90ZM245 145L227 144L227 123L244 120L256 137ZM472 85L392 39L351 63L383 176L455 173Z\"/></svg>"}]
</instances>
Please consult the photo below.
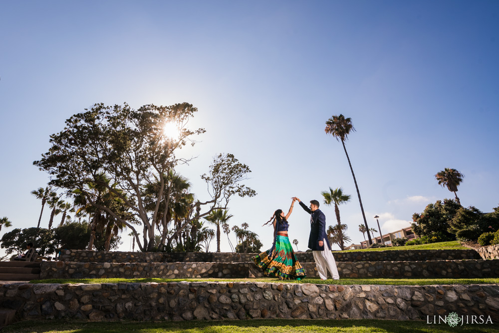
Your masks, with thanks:
<instances>
[{"instance_id":1,"label":"man in dark navy jacket and loose white trousers","mask_svg":"<svg viewBox=\"0 0 499 333\"><path fill-rule=\"evenodd\" d=\"M321 280L327 280L327 270L331 273L333 280L339 280L338 269L331 253L331 246L326 236L326 216L319 209L319 201L311 200L308 208L300 199L294 197L300 206L310 214L310 236L308 237L308 248L312 250L317 272Z\"/></svg>"}]
</instances>

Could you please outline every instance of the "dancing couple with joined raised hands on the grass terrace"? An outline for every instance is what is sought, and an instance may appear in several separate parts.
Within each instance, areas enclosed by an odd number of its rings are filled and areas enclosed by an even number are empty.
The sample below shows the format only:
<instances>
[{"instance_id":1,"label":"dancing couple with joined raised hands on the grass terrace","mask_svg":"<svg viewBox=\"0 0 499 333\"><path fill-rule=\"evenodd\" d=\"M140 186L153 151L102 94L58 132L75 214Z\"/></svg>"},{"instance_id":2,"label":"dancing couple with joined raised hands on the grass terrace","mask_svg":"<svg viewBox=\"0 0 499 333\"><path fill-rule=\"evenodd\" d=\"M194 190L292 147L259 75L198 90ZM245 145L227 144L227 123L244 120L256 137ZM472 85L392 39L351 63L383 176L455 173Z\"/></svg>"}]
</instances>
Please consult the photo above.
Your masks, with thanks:
<instances>
[{"instance_id":1,"label":"dancing couple with joined raised hands on the grass terrace","mask_svg":"<svg viewBox=\"0 0 499 333\"><path fill-rule=\"evenodd\" d=\"M338 269L326 236L326 216L319 210L319 201L311 200L310 207L307 207L297 197L291 199L293 201L286 215L284 215L282 209L277 209L270 217L270 220L263 224L266 225L272 222L274 241L269 250L253 257L253 262L263 270L265 276L276 276L280 280L300 280L306 276L287 236L289 227L287 219L293 211L294 202L298 201L300 206L310 214L308 248L312 250L320 279L326 280L327 270L329 270L333 280L339 280Z\"/></svg>"}]
</instances>

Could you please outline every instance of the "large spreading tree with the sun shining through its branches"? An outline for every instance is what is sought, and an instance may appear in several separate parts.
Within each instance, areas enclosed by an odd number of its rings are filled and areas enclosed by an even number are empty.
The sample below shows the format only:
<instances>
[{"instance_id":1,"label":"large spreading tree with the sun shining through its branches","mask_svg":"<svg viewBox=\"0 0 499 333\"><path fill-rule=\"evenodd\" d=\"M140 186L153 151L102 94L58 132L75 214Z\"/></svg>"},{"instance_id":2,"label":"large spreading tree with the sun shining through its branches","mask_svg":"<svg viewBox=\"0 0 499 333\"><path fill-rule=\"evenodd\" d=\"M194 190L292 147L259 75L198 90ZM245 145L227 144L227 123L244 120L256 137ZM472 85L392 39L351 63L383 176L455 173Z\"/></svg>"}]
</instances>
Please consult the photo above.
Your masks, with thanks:
<instances>
[{"instance_id":1,"label":"large spreading tree with the sun shining through its branches","mask_svg":"<svg viewBox=\"0 0 499 333\"><path fill-rule=\"evenodd\" d=\"M205 132L187 128L196 112L188 103L145 105L138 110L127 104L95 104L66 120L64 129L50 136L48 152L33 164L50 174L49 185L67 194L78 190L87 204L130 228L140 250L155 246L156 229L162 235L161 243L168 246L192 221L214 209L226 209L233 195L256 194L242 183L248 179L250 168L232 154L219 154L209 172L202 175L210 197L204 202L189 202L181 225L172 232L169 209L161 211L160 206L170 207L174 185L170 175L175 167L191 160L178 157L178 151L188 144L194 146L194 136ZM110 181L104 181L102 175ZM142 241L133 221L96 200L92 186L97 185L119 198L142 224Z\"/></svg>"}]
</instances>

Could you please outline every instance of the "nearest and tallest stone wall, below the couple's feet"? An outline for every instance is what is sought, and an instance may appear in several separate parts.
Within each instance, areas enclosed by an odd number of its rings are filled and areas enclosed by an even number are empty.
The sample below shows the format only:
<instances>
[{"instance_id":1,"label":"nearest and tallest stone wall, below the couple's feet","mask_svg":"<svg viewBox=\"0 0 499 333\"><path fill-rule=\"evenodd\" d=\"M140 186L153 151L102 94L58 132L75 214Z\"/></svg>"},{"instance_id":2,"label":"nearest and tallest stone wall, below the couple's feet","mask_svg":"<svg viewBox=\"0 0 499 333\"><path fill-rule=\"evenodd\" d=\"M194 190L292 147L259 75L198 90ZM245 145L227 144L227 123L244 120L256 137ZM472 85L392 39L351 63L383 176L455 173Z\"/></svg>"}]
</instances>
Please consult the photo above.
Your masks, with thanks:
<instances>
[{"instance_id":1,"label":"nearest and tallest stone wall, below the couple's feet","mask_svg":"<svg viewBox=\"0 0 499 333\"><path fill-rule=\"evenodd\" d=\"M499 321L499 286L334 286L274 283L0 284L17 320L391 319L485 316Z\"/></svg>"}]
</instances>

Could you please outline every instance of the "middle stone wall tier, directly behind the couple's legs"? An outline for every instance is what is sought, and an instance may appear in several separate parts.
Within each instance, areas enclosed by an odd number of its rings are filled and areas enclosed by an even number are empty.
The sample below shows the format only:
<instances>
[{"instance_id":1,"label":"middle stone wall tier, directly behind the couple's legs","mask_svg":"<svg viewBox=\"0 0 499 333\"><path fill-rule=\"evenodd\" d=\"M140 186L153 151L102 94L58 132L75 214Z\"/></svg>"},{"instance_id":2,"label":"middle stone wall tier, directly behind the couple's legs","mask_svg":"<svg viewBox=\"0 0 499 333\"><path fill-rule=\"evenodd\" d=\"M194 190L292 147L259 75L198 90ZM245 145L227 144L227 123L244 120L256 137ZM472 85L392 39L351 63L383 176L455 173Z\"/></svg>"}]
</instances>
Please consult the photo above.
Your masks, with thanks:
<instances>
[{"instance_id":1,"label":"middle stone wall tier, directly behind the couple's legs","mask_svg":"<svg viewBox=\"0 0 499 333\"><path fill-rule=\"evenodd\" d=\"M309 278L315 263L301 263ZM340 278L495 278L499 260L338 262ZM262 271L247 263L78 263L43 261L41 279L253 278Z\"/></svg>"}]
</instances>

